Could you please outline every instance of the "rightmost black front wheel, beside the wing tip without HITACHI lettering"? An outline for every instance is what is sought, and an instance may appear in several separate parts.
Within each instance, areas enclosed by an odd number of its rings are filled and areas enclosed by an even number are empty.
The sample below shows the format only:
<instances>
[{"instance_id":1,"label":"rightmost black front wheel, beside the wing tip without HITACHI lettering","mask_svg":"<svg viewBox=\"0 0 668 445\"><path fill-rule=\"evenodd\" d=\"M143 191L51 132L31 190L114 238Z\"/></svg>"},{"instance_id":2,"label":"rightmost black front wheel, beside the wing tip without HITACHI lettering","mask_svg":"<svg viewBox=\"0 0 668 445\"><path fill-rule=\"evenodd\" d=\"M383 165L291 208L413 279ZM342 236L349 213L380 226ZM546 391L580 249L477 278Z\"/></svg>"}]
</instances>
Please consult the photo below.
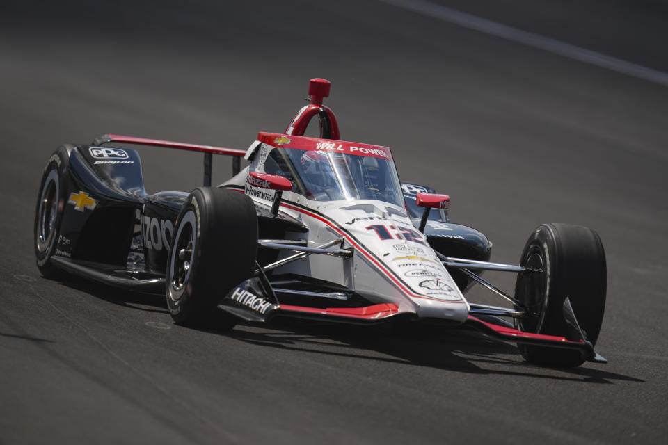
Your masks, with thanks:
<instances>
[{"instance_id":1,"label":"rightmost black front wheel, beside the wing tip without HITACHI lettering","mask_svg":"<svg viewBox=\"0 0 668 445\"><path fill-rule=\"evenodd\" d=\"M578 324L596 344L603 323L607 272L601 238L594 230L568 224L543 224L527 241L520 265L541 272L520 273L515 296L532 316L516 319L525 332L568 336L562 305L566 297ZM518 345L527 362L548 366L579 366L579 351Z\"/></svg>"}]
</instances>

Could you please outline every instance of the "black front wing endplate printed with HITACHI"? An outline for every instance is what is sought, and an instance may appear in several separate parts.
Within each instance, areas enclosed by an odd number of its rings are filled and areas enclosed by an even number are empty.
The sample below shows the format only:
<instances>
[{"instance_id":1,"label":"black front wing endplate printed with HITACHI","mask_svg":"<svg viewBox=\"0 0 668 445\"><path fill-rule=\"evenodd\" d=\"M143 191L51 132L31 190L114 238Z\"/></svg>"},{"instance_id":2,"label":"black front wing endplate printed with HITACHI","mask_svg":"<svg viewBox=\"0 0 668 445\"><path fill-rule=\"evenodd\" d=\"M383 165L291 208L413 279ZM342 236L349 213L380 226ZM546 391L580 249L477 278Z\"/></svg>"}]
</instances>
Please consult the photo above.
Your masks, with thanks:
<instances>
[{"instance_id":1,"label":"black front wing endplate printed with HITACHI","mask_svg":"<svg viewBox=\"0 0 668 445\"><path fill-rule=\"evenodd\" d=\"M218 308L246 321L264 323L280 306L271 286L260 277L253 277L232 288Z\"/></svg>"}]
</instances>

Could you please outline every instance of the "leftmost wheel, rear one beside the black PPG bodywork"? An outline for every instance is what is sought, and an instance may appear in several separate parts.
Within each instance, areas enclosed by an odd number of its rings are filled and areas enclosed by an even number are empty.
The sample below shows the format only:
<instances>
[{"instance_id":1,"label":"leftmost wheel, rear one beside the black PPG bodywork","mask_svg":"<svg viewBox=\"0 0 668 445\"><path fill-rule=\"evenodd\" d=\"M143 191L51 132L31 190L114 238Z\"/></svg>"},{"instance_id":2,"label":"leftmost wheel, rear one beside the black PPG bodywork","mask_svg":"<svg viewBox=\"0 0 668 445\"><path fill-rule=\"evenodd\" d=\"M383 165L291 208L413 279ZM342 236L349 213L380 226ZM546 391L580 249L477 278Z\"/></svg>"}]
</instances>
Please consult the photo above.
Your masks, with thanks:
<instances>
[{"instance_id":1,"label":"leftmost wheel, rear one beside the black PPG bodywork","mask_svg":"<svg viewBox=\"0 0 668 445\"><path fill-rule=\"evenodd\" d=\"M35 206L33 234L37 267L44 277L52 279L60 275L60 270L52 264L51 257L56 252L58 232L67 202L66 171L69 159L64 147L58 148L51 155L42 175Z\"/></svg>"}]
</instances>

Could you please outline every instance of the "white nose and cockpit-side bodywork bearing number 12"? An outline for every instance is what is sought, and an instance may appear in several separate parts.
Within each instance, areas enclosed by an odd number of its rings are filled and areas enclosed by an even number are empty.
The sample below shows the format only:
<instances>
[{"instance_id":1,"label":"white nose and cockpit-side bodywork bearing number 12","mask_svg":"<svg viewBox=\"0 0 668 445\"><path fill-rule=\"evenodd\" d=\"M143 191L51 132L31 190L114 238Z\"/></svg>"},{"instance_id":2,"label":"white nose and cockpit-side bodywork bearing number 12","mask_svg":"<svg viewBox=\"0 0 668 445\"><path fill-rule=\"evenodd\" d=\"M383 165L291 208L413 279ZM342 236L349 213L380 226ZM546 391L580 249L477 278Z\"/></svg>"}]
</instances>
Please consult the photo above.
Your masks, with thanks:
<instances>
[{"instance_id":1,"label":"white nose and cockpit-side bodywork bearing number 12","mask_svg":"<svg viewBox=\"0 0 668 445\"><path fill-rule=\"evenodd\" d=\"M250 169L262 171L266 144L251 145L262 150ZM260 165L258 165L260 164ZM244 191L258 211L267 213L275 191L248 184L249 168L221 186ZM235 187L236 186L236 187ZM340 284L370 301L393 303L399 312L420 318L446 318L454 323L466 321L469 305L418 232L406 209L379 200L315 201L294 192L283 192L278 218L298 220L308 233L288 232L287 239L306 239L317 247L343 238L342 248L352 248L351 258L312 254L280 266L275 275L298 274ZM278 259L294 252L282 251Z\"/></svg>"}]
</instances>

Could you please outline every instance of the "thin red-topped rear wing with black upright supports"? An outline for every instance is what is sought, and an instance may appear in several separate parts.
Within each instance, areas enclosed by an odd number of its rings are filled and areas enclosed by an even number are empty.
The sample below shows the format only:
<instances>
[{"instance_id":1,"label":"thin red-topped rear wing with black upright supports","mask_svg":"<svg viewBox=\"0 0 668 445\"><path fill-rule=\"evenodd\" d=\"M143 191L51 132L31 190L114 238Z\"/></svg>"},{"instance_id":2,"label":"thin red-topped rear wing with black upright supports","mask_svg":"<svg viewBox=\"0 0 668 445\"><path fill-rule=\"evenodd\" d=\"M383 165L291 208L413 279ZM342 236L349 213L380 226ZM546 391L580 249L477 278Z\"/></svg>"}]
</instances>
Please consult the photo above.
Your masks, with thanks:
<instances>
[{"instance_id":1,"label":"thin red-topped rear wing with black upright supports","mask_svg":"<svg viewBox=\"0 0 668 445\"><path fill-rule=\"evenodd\" d=\"M241 170L240 158L246 154L246 150L238 148L224 148L212 147L211 145L186 144L182 142L172 142L170 140L135 138L134 136L121 136L120 134L103 134L93 139L91 145L100 146L106 143L118 142L125 144L136 145L150 145L152 147L167 147L182 150L190 150L192 152L204 153L204 186L211 186L211 164L212 154L224 154L226 156L234 156L232 158L232 175L237 175Z\"/></svg>"}]
</instances>

